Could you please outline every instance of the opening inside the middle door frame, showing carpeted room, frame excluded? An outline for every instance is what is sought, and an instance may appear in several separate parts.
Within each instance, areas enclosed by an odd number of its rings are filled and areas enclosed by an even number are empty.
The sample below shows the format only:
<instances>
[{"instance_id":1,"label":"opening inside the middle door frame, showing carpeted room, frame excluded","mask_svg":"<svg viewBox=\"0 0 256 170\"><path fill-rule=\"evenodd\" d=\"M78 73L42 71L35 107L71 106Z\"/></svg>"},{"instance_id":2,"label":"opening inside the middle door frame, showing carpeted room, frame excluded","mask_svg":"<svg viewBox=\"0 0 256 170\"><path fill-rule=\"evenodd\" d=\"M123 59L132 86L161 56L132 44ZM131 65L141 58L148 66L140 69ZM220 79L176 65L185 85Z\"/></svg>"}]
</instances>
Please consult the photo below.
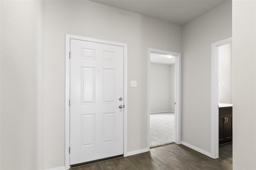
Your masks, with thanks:
<instances>
[{"instance_id":1,"label":"opening inside the middle door frame, showing carpeted room, frame excluded","mask_svg":"<svg viewBox=\"0 0 256 170\"><path fill-rule=\"evenodd\" d=\"M174 142L175 57L150 53L150 148Z\"/></svg>"}]
</instances>

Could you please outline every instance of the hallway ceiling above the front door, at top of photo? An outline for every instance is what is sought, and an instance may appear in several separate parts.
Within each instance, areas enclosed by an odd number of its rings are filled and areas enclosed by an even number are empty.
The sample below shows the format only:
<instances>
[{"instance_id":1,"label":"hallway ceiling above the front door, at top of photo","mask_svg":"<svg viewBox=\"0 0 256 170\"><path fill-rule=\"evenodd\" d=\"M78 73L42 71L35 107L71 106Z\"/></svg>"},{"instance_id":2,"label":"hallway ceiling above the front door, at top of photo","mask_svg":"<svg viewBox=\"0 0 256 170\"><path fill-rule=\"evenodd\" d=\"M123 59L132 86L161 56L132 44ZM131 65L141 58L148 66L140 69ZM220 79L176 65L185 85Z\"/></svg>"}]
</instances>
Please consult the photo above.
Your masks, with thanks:
<instances>
[{"instance_id":1,"label":"hallway ceiling above the front door, at top of photo","mask_svg":"<svg viewBox=\"0 0 256 170\"><path fill-rule=\"evenodd\" d=\"M90 0L184 25L227 0Z\"/></svg>"}]
</instances>

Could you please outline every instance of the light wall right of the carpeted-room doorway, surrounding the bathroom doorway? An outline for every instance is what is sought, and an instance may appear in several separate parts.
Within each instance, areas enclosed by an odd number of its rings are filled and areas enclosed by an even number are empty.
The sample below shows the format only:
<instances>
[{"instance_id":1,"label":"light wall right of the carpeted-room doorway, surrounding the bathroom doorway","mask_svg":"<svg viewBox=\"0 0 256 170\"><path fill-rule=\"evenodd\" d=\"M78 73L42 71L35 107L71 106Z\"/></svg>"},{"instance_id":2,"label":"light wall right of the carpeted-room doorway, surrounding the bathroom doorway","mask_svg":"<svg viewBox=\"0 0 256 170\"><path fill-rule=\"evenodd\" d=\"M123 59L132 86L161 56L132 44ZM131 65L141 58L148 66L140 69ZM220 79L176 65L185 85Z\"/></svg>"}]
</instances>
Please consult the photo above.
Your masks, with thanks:
<instances>
[{"instance_id":1,"label":"light wall right of the carpeted-room doorway, surrounding the bathroom doorway","mask_svg":"<svg viewBox=\"0 0 256 170\"><path fill-rule=\"evenodd\" d=\"M181 140L206 152L211 151L211 43L232 36L231 3L182 27Z\"/></svg>"}]
</instances>

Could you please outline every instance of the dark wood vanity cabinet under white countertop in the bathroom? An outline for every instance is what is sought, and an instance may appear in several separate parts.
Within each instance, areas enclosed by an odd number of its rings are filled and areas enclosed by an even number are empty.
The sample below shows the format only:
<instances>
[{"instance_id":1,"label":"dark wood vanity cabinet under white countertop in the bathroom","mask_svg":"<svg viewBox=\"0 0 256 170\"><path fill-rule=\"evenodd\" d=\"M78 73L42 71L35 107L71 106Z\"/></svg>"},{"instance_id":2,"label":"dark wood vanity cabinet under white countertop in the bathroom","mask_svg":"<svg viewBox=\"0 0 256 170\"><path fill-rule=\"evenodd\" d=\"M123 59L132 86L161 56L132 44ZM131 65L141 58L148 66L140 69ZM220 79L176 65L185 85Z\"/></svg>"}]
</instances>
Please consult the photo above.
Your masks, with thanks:
<instances>
[{"instance_id":1,"label":"dark wood vanity cabinet under white countertop in the bathroom","mask_svg":"<svg viewBox=\"0 0 256 170\"><path fill-rule=\"evenodd\" d=\"M219 144L232 142L232 107L219 108Z\"/></svg>"}]
</instances>

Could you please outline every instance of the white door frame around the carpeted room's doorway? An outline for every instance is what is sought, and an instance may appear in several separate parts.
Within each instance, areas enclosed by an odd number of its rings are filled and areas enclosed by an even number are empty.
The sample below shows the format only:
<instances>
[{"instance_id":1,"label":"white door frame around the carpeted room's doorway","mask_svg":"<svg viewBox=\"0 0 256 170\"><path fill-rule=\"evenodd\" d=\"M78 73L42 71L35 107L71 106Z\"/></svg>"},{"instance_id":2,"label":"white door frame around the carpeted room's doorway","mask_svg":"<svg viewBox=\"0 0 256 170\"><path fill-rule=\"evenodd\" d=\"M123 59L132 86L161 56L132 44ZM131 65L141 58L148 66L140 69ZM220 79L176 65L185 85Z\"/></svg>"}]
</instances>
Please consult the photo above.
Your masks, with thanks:
<instances>
[{"instance_id":1,"label":"white door frame around the carpeted room's doorway","mask_svg":"<svg viewBox=\"0 0 256 170\"><path fill-rule=\"evenodd\" d=\"M150 150L150 53L160 53L175 57L175 123L174 123L174 142L180 144L180 102L181 102L181 76L180 76L180 53L165 51L160 49L148 48L148 150Z\"/></svg>"}]
</instances>

